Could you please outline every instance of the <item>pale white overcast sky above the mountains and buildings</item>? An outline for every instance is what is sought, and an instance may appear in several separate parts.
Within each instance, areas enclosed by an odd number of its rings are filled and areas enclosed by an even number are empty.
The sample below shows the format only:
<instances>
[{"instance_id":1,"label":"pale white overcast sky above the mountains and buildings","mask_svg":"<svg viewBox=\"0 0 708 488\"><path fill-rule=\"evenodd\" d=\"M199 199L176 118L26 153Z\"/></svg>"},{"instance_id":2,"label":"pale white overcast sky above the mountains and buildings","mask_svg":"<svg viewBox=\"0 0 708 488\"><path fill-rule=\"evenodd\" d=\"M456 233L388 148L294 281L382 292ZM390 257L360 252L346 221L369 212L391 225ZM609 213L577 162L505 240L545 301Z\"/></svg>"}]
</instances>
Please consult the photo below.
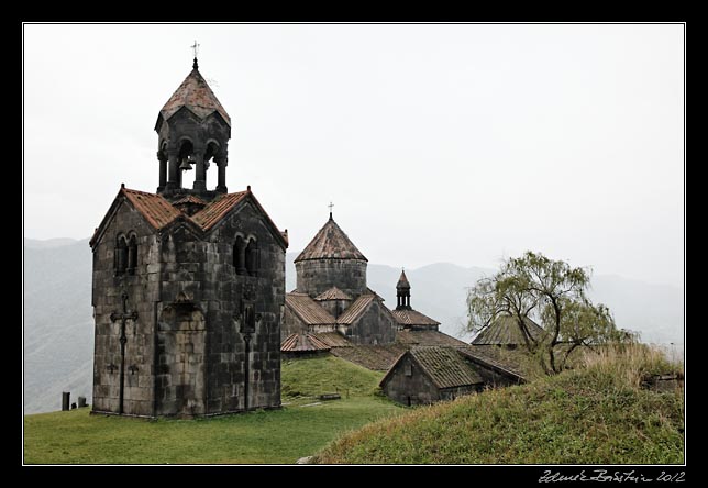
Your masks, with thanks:
<instances>
[{"instance_id":1,"label":"pale white overcast sky above the mountains and buildings","mask_svg":"<svg viewBox=\"0 0 708 488\"><path fill-rule=\"evenodd\" d=\"M532 249L682 286L683 25L25 25L26 237L88 237L121 182L155 191L195 40L229 190L290 251L331 200L370 263Z\"/></svg>"}]
</instances>

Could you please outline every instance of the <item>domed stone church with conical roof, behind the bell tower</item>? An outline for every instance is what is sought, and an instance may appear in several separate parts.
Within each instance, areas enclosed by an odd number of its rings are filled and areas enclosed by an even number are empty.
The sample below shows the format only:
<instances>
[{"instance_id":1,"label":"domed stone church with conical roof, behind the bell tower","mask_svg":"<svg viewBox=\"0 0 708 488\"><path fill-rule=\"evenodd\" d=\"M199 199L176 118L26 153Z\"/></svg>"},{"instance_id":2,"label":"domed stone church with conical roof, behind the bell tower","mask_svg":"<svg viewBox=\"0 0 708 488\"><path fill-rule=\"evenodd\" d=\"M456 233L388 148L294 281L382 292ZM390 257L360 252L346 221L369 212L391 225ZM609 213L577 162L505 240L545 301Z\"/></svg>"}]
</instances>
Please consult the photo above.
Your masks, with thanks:
<instances>
[{"instance_id":1,"label":"domed stone church with conical roof, behind the bell tower","mask_svg":"<svg viewBox=\"0 0 708 488\"><path fill-rule=\"evenodd\" d=\"M410 304L402 271L390 310L366 284L367 259L332 218L295 258L296 289L286 295L283 348L288 355L330 348L356 362L367 351L366 367L388 369L413 345L465 345L439 331L440 323Z\"/></svg>"}]
</instances>

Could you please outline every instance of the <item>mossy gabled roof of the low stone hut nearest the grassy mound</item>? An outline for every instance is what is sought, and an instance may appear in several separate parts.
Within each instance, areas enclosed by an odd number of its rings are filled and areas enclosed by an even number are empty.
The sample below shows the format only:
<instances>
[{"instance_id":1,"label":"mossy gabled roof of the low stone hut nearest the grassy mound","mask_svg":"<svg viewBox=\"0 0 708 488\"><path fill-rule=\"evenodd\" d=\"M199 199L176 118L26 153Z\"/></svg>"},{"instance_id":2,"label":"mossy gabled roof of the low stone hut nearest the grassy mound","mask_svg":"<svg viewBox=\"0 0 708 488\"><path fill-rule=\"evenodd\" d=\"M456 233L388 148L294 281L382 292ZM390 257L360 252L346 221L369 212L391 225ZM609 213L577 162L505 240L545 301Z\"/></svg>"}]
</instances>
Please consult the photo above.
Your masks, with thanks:
<instances>
[{"instance_id":1,"label":"mossy gabled roof of the low stone hut nearest the grassy mound","mask_svg":"<svg viewBox=\"0 0 708 488\"><path fill-rule=\"evenodd\" d=\"M475 368L454 347L412 347L398 358L396 365L407 356L418 364L438 388L455 388L484 382ZM391 376L396 365L384 376L380 385Z\"/></svg>"}]
</instances>

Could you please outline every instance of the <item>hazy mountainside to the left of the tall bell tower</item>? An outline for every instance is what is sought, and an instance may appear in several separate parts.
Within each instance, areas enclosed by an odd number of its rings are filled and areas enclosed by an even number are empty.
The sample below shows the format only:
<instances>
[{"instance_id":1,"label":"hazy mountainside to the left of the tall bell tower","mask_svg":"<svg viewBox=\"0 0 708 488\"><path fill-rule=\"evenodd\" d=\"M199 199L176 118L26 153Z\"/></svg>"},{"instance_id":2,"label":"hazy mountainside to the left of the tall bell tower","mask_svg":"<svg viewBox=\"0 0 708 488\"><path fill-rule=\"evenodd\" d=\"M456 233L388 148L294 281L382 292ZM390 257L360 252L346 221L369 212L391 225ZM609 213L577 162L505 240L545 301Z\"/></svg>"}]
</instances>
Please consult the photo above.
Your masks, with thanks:
<instances>
[{"instance_id":1,"label":"hazy mountainside to the left of the tall bell tower","mask_svg":"<svg viewBox=\"0 0 708 488\"><path fill-rule=\"evenodd\" d=\"M52 241L24 248L25 413L60 409L62 391L91 398L91 249Z\"/></svg>"}]
</instances>

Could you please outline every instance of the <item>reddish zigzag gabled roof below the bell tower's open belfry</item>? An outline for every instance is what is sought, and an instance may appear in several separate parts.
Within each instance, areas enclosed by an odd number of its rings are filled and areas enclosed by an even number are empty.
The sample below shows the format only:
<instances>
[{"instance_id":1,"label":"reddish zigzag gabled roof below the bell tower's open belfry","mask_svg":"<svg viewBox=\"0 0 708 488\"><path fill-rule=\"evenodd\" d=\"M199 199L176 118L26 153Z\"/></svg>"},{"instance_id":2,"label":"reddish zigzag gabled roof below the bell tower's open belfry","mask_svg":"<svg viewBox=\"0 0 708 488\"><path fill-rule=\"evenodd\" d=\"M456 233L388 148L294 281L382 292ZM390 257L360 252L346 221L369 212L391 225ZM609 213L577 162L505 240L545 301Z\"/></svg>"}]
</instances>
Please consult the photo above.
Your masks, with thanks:
<instances>
[{"instance_id":1,"label":"reddish zigzag gabled roof below the bell tower's open belfry","mask_svg":"<svg viewBox=\"0 0 708 488\"><path fill-rule=\"evenodd\" d=\"M132 190L121 186L111 208L103 217L101 224L97 228L93 236L89 241L89 244L93 246L98 241L99 236L103 232L103 229L112 220L113 214L118 210L119 206L123 199L137 210L137 212L147 221L147 223L155 229L156 231L162 231L163 229L170 225L173 222L181 219L184 222L187 222L193 225L193 229L199 232L209 232L214 228L226 214L234 209L239 203L245 201L246 199L253 203L253 206L263 213L266 222L269 224L273 235L280 241L280 243L287 248L287 233L280 232L275 223L270 220L270 217L267 212L261 207L258 200L256 200L253 192L248 189L246 191L239 191L235 193L226 193L217 197L213 201L207 203L202 209L196 212L193 215L189 215L182 212L178 204L185 202L195 202L203 203L203 200L193 197L187 196L182 197L175 203L170 203L162 195L148 193L145 191Z\"/></svg>"}]
</instances>

